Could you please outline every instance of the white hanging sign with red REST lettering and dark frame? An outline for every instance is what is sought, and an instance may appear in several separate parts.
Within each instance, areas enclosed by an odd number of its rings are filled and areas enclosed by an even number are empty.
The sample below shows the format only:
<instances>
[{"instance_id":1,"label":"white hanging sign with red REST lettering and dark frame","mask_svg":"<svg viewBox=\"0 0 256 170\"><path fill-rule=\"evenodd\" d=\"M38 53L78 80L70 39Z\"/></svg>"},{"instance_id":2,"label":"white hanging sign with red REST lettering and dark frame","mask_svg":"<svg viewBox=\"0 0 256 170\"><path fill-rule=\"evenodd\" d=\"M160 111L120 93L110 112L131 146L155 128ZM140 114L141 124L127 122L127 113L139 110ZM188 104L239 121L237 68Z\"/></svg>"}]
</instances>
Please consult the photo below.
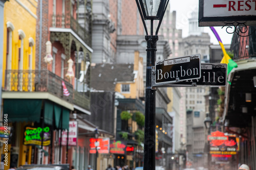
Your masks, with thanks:
<instances>
[{"instance_id":1,"label":"white hanging sign with red REST lettering and dark frame","mask_svg":"<svg viewBox=\"0 0 256 170\"><path fill-rule=\"evenodd\" d=\"M199 0L199 27L251 26L256 23L256 2L240 0Z\"/></svg>"}]
</instances>

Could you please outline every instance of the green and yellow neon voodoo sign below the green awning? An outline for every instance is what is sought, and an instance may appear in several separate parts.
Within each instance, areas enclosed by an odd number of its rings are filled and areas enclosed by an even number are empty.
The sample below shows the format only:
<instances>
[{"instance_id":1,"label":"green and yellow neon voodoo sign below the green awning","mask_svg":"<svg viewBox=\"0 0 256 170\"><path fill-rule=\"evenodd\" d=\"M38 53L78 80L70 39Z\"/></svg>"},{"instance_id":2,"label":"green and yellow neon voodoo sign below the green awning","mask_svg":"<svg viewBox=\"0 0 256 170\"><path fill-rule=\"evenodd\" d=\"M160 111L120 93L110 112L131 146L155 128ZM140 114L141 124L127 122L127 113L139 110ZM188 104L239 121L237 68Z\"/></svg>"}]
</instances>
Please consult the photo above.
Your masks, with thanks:
<instances>
[{"instance_id":1,"label":"green and yellow neon voodoo sign below the green awning","mask_svg":"<svg viewBox=\"0 0 256 170\"><path fill-rule=\"evenodd\" d=\"M45 127L37 127L37 128L32 128L32 127L26 127L25 128L25 133L24 133L24 145L42 145L48 146L51 143L51 135L49 133L50 128ZM44 133L43 138L41 139L41 132Z\"/></svg>"}]
</instances>

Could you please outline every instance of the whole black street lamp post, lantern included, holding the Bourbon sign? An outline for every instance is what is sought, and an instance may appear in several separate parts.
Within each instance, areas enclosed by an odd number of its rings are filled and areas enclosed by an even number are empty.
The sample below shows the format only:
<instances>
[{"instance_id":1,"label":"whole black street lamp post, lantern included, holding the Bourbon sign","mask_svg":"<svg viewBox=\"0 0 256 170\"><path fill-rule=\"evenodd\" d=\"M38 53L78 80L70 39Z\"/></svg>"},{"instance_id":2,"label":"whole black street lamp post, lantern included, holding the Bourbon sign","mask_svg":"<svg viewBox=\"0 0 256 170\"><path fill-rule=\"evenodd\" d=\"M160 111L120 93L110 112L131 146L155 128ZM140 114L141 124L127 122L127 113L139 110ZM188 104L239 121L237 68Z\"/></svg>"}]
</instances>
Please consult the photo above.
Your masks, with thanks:
<instances>
[{"instance_id":1,"label":"whole black street lamp post, lantern included, holding the Bourbon sign","mask_svg":"<svg viewBox=\"0 0 256 170\"><path fill-rule=\"evenodd\" d=\"M158 31L169 0L135 0L146 32L146 92L143 169L156 169L156 88L152 87L152 67L155 65ZM151 34L148 35L145 20L151 20ZM153 35L154 20L159 20Z\"/></svg>"}]
</instances>

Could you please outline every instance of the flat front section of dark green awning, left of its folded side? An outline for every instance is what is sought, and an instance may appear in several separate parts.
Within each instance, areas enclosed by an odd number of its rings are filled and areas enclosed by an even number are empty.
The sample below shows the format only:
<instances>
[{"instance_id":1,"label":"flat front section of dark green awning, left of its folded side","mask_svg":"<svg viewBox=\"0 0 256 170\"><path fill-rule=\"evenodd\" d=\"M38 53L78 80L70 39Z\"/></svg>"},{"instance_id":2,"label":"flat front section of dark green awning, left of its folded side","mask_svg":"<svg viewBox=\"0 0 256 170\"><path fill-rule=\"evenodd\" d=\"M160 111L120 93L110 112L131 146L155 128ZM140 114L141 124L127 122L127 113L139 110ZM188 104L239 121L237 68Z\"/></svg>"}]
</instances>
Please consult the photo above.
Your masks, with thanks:
<instances>
[{"instance_id":1,"label":"flat front section of dark green awning, left of its folded side","mask_svg":"<svg viewBox=\"0 0 256 170\"><path fill-rule=\"evenodd\" d=\"M4 99L4 114L8 122L40 123L41 99Z\"/></svg>"}]
</instances>

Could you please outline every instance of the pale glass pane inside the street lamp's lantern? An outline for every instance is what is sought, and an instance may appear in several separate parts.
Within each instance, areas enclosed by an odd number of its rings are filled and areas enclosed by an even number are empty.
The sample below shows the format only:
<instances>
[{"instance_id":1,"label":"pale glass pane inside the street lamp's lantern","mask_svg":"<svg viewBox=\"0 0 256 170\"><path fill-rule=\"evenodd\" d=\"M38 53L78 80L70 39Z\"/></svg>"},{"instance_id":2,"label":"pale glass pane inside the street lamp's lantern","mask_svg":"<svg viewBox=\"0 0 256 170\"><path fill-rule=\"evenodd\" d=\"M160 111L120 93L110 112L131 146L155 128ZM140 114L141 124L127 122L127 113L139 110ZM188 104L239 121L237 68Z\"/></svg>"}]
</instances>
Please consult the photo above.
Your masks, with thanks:
<instances>
[{"instance_id":1,"label":"pale glass pane inside the street lamp's lantern","mask_svg":"<svg viewBox=\"0 0 256 170\"><path fill-rule=\"evenodd\" d=\"M142 0L146 16L157 16L161 0Z\"/></svg>"}]
</instances>

